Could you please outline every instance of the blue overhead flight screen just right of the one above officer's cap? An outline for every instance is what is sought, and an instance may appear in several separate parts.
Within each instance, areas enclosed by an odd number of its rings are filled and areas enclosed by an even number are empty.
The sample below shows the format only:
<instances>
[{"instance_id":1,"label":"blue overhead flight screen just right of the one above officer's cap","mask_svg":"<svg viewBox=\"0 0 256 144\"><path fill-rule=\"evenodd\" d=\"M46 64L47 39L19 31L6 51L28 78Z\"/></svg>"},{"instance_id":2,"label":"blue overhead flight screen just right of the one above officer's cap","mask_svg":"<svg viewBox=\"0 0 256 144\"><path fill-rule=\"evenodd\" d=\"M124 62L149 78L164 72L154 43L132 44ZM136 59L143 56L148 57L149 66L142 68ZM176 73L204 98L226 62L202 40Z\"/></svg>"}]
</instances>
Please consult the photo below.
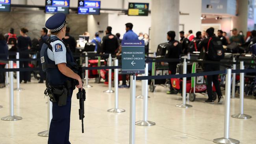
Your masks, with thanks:
<instances>
[{"instance_id":1,"label":"blue overhead flight screen just right of the one above officer's cap","mask_svg":"<svg viewBox=\"0 0 256 144\"><path fill-rule=\"evenodd\" d=\"M100 15L100 1L78 0L79 15Z\"/></svg>"}]
</instances>

